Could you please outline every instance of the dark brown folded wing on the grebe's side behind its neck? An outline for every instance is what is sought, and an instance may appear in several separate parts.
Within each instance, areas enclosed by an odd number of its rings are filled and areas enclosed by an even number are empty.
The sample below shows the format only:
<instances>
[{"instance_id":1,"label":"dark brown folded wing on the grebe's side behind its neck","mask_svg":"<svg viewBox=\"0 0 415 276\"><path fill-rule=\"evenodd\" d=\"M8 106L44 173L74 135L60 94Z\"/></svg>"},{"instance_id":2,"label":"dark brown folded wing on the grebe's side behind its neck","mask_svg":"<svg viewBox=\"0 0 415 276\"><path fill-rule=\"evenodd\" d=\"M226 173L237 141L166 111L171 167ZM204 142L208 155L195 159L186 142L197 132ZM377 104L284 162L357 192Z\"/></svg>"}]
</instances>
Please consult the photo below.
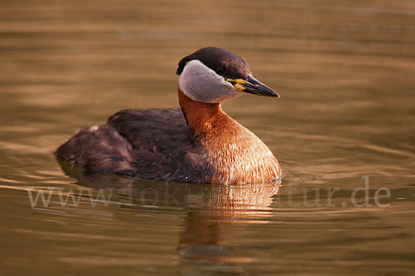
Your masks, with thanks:
<instances>
[{"instance_id":1,"label":"dark brown folded wing on the grebe's side behind its neck","mask_svg":"<svg viewBox=\"0 0 415 276\"><path fill-rule=\"evenodd\" d=\"M185 164L191 140L181 109L126 109L111 116L107 125L131 143L134 174L176 178Z\"/></svg>"}]
</instances>

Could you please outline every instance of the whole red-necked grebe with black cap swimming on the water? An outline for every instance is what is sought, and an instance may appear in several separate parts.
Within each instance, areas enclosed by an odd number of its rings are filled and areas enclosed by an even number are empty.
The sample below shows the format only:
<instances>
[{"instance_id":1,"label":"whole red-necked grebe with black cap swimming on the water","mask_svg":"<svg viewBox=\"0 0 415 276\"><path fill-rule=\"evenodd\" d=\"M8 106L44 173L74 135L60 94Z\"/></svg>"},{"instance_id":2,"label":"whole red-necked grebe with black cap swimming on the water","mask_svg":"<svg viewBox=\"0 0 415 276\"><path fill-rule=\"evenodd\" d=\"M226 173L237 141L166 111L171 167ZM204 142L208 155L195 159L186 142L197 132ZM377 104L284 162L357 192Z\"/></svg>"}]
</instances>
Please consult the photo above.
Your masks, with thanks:
<instances>
[{"instance_id":1,"label":"whole red-necked grebe with black cap swimming on the water","mask_svg":"<svg viewBox=\"0 0 415 276\"><path fill-rule=\"evenodd\" d=\"M181 109L127 109L106 125L81 129L55 156L89 172L193 183L261 183L282 177L273 153L226 115L221 102L250 93L279 95L243 57L216 47L178 63Z\"/></svg>"}]
</instances>

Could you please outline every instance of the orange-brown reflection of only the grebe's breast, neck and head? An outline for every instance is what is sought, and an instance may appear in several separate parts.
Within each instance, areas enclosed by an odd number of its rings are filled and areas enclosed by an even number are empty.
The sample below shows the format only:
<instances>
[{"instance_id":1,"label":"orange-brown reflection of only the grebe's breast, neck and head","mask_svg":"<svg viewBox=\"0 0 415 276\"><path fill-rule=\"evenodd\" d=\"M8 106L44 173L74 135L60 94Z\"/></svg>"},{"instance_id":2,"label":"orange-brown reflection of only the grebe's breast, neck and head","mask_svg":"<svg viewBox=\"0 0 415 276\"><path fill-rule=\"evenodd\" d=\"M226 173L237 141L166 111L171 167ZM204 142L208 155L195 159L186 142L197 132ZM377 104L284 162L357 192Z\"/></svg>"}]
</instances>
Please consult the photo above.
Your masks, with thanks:
<instances>
[{"instance_id":1,"label":"orange-brown reflection of only the grebe's breast, neck and head","mask_svg":"<svg viewBox=\"0 0 415 276\"><path fill-rule=\"evenodd\" d=\"M237 264L252 259L237 248L227 246L228 238L240 234L234 226L268 223L273 216L268 207L279 189L278 183L252 185L209 185L203 192L187 194L184 230L179 234L178 255L183 266L226 266L233 272ZM235 271L234 271L235 270Z\"/></svg>"}]
</instances>

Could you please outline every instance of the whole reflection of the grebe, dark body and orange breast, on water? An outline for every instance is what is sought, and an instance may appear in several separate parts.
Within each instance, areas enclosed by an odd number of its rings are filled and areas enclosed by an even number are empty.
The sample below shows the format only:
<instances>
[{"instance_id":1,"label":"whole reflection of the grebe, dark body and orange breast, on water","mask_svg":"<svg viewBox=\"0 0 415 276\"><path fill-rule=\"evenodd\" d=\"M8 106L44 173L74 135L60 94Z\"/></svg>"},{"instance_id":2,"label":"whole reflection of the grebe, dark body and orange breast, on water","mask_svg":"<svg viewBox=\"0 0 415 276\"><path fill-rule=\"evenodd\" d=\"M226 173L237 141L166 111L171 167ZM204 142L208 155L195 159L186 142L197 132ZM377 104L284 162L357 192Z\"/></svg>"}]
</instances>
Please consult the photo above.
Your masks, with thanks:
<instances>
[{"instance_id":1,"label":"whole reflection of the grebe, dark body and orange breast, on water","mask_svg":"<svg viewBox=\"0 0 415 276\"><path fill-rule=\"evenodd\" d=\"M77 184L94 190L105 189L124 196L130 208L155 208L171 212L185 211L183 230L178 234L177 254L187 273L192 266L240 272L237 264L252 261L237 248L227 246L234 234L230 223L268 223L273 217L268 207L278 193L280 182L251 185L203 185L133 179L111 174L89 174L80 167L60 161L68 176ZM233 230L232 230L233 229ZM190 269L190 270L189 270ZM182 271L183 273L185 271Z\"/></svg>"}]
</instances>

